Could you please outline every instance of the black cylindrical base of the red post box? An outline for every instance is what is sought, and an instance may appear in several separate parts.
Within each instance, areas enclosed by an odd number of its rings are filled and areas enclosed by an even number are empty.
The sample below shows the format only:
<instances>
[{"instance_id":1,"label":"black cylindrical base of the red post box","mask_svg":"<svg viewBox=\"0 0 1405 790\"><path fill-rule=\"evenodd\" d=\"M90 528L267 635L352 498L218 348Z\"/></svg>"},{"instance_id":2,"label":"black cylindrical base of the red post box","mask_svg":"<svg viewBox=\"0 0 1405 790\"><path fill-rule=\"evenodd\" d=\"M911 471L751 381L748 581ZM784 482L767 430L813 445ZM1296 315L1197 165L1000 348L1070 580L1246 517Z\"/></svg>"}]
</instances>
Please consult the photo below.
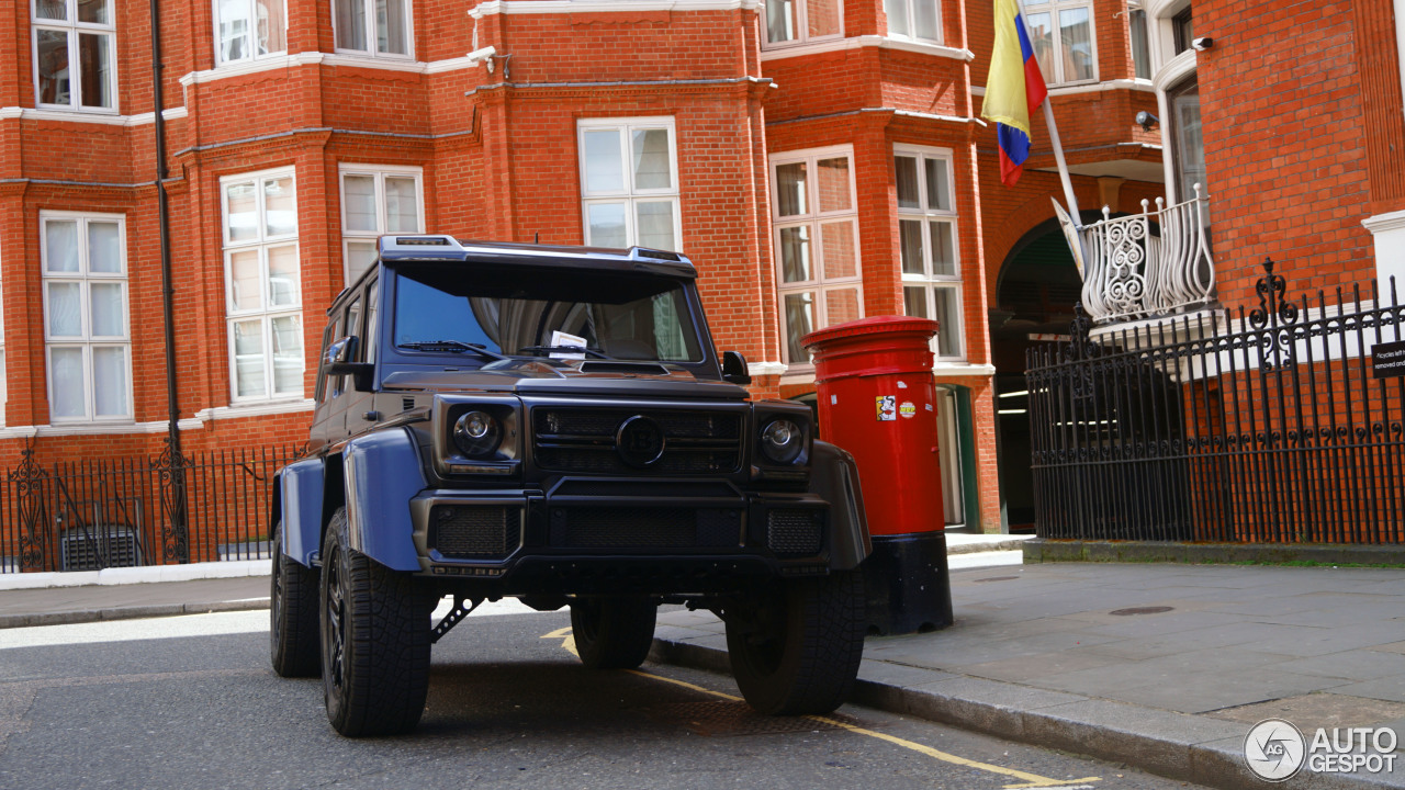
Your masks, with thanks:
<instances>
[{"instance_id":1,"label":"black cylindrical base of the red post box","mask_svg":"<svg viewBox=\"0 0 1405 790\"><path fill-rule=\"evenodd\" d=\"M873 545L863 564L868 633L924 634L950 626L947 536L873 536Z\"/></svg>"}]
</instances>

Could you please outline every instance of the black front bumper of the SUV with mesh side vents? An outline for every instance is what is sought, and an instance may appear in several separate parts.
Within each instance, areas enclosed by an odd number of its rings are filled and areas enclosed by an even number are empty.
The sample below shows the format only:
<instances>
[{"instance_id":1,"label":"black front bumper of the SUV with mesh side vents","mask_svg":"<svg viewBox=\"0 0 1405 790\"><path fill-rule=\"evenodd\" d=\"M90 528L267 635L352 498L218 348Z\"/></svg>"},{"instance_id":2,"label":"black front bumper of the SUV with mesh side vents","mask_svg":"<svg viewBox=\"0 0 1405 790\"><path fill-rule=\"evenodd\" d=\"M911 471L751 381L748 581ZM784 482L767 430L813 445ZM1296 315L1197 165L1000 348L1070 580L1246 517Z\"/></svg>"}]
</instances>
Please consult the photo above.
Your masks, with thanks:
<instances>
[{"instance_id":1,"label":"black front bumper of the SUV with mesh side vents","mask_svg":"<svg viewBox=\"0 0 1405 790\"><path fill-rule=\"evenodd\" d=\"M410 512L423 575L500 595L708 592L829 568L829 503L812 493L573 479L549 492L424 491Z\"/></svg>"}]
</instances>

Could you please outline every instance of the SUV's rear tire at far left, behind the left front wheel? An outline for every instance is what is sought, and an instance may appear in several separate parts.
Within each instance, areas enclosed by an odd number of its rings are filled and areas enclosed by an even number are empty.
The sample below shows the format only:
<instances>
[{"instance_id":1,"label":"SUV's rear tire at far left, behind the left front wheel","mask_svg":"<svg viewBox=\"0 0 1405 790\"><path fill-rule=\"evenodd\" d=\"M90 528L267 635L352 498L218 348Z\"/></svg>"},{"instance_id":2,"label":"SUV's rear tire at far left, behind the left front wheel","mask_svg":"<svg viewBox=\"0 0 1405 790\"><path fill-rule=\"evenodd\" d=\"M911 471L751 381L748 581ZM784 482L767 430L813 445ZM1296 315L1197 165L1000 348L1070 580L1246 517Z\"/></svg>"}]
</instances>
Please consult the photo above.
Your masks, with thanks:
<instances>
[{"instance_id":1,"label":"SUV's rear tire at far left, behind the left front wheel","mask_svg":"<svg viewBox=\"0 0 1405 790\"><path fill-rule=\"evenodd\" d=\"M318 569L282 552L282 522L273 529L273 579L268 585L268 654L284 678L316 678Z\"/></svg>"}]
</instances>

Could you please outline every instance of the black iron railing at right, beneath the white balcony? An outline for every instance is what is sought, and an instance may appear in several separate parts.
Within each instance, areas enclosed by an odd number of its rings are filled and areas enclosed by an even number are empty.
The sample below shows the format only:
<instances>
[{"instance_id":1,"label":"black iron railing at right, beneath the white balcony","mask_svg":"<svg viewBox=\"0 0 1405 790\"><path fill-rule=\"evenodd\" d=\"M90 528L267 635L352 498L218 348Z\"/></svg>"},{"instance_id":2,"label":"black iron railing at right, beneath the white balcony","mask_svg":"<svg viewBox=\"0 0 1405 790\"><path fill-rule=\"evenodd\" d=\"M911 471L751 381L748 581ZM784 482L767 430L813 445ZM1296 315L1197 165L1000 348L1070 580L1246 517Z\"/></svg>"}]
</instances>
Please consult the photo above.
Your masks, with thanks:
<instances>
[{"instance_id":1,"label":"black iron railing at right, beneath the white balcony","mask_svg":"<svg viewBox=\"0 0 1405 790\"><path fill-rule=\"evenodd\" d=\"M1027 356L1040 537L1405 543L1405 340L1394 281L1090 337ZM1398 368L1397 368L1398 370Z\"/></svg>"}]
</instances>

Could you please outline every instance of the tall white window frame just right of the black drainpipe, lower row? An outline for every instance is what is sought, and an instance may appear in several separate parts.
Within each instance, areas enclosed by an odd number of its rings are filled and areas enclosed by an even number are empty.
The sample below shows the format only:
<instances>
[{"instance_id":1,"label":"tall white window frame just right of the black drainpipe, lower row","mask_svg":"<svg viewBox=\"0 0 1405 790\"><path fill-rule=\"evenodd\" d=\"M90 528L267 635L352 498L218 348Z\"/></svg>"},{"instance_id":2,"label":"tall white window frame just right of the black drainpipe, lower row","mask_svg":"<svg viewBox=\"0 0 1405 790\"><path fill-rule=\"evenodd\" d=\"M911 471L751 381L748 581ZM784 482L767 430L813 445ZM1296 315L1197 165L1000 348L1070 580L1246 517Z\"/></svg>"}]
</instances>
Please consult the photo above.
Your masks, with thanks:
<instances>
[{"instance_id":1,"label":"tall white window frame just right of the black drainpipe, lower row","mask_svg":"<svg viewBox=\"0 0 1405 790\"><path fill-rule=\"evenodd\" d=\"M292 233L275 233L270 235L267 232L267 207L264 202L264 188L266 181L274 179L292 179L294 184L294 231ZM229 187L233 184L253 183L256 195L256 216L259 218L257 228L259 232L253 239L230 239L229 232ZM305 396L306 382L306 353L308 353L308 339L306 326L302 320L302 247L298 239L298 224L296 224L296 188L298 179L294 167L277 167L273 170L259 170L253 173L240 173L237 176L225 176L219 180L219 216L221 216L221 233L223 239L223 266L225 266L225 323L226 323L226 343L229 350L229 398L230 403L267 403L277 401L301 401ZM273 247L292 246L294 256L298 260L298 298L291 305L270 305L268 292L268 250ZM260 305L256 309L237 309L235 306L235 283L233 283L233 267L232 260L235 253L256 250L259 254L259 278L260 278ZM275 392L275 377L277 377L277 360L273 347L273 320L278 318L296 318L299 330L299 344L301 344L301 367L298 375L298 388L292 392ZM260 337L261 337L261 354L264 364L264 391L259 395L239 395L239 360L236 354L235 344L235 325L249 320L260 320Z\"/></svg>"}]
</instances>

